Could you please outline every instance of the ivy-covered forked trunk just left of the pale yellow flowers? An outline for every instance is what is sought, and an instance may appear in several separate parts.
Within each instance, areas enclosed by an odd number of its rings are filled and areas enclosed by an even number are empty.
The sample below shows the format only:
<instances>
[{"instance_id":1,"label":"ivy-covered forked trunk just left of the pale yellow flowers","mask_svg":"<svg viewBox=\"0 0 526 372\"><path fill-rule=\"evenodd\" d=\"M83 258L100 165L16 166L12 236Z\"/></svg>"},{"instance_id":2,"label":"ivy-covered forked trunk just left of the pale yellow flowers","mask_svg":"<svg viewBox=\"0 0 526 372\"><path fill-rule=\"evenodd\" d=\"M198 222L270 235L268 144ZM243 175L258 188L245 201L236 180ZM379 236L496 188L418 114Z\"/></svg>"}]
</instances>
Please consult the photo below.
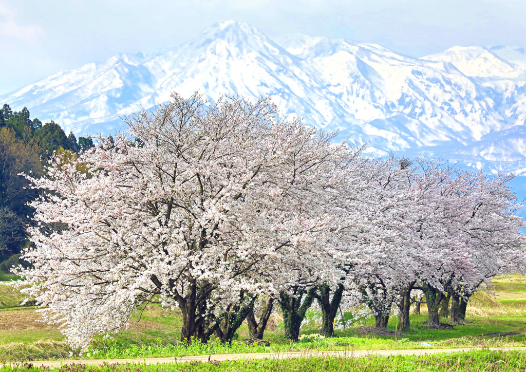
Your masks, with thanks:
<instances>
[{"instance_id":1,"label":"ivy-covered forked trunk just left of the pale yellow flowers","mask_svg":"<svg viewBox=\"0 0 526 372\"><path fill-rule=\"evenodd\" d=\"M315 290L316 288L310 288L308 291L305 288L296 288L293 293L294 296L285 293L280 294L279 304L283 313L285 337L289 340L298 340L301 322L310 305L312 305Z\"/></svg>"}]
</instances>

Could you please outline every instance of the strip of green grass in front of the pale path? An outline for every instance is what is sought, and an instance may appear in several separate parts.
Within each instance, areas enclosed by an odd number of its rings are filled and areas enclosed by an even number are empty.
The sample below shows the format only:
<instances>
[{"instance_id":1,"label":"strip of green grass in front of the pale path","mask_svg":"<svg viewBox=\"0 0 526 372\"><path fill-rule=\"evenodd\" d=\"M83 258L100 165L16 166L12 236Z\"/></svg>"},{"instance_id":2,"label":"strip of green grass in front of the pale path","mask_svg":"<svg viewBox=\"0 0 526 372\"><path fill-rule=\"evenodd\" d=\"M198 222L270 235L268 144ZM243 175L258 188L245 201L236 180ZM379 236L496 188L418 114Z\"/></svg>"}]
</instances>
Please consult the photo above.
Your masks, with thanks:
<instances>
[{"instance_id":1,"label":"strip of green grass in front of the pale path","mask_svg":"<svg viewBox=\"0 0 526 372\"><path fill-rule=\"evenodd\" d=\"M47 368L46 368L47 369ZM217 372L246 371L267 372L287 371L429 371L429 372L468 372L468 371L521 371L526 369L526 353L523 351L468 351L428 356L390 356L334 358L313 357L299 359L262 359L222 362L187 362L157 365L106 364L103 366L66 365L54 369L58 372ZM43 368L31 364L15 367L4 366L0 372L41 372ZM49 369L48 369L49 370Z\"/></svg>"}]
</instances>

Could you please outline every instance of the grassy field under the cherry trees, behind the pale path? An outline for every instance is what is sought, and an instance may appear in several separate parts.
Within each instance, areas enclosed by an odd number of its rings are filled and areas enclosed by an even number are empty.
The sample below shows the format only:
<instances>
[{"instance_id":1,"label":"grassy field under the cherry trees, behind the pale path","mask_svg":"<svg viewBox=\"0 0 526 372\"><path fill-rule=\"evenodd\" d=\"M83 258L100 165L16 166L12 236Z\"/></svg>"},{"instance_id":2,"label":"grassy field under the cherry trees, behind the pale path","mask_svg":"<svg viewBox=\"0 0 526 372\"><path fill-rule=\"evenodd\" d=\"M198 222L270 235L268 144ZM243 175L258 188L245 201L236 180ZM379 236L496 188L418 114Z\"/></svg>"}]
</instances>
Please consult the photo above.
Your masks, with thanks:
<instances>
[{"instance_id":1,"label":"grassy field under the cherry trees, behind the pale path","mask_svg":"<svg viewBox=\"0 0 526 372\"><path fill-rule=\"evenodd\" d=\"M34 308L15 307L23 297L11 287L0 285L0 361L43 360L69 358L71 350L55 326L42 323ZM206 345L185 346L179 343L181 319L178 311L156 305L148 306L141 320L114 339L96 337L84 354L86 358L165 357L198 354L258 353L285 350L365 350L415 349L451 347L526 346L526 279L495 280L495 296L477 294L468 307L468 324L455 329L427 329L425 306L423 315L411 315L411 331L400 337L363 334L360 327L372 325L372 320L347 331L337 330L335 336L311 343L291 344L284 339L279 314L271 319L265 331L270 347L246 346L246 325L239 329L239 338L231 347L211 340ZM392 317L389 328L395 329ZM447 319L443 319L447 322ZM302 334L317 333L319 325L308 324Z\"/></svg>"}]
</instances>

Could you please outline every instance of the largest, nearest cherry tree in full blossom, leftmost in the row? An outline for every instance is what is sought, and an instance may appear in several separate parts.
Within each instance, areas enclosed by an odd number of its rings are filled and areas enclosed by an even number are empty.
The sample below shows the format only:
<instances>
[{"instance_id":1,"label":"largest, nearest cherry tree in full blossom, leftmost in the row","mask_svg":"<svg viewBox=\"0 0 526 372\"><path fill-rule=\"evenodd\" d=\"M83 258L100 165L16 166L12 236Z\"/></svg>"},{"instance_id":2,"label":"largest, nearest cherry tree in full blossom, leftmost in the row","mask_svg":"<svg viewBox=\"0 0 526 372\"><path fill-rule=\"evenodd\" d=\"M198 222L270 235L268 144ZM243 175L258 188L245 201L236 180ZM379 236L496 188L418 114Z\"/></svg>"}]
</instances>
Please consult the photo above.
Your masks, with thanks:
<instances>
[{"instance_id":1,"label":"largest, nearest cherry tree in full blossom, leftmost in the row","mask_svg":"<svg viewBox=\"0 0 526 372\"><path fill-rule=\"evenodd\" d=\"M118 331L149 301L181 310L182 339L206 340L240 293L278 293L269 278L287 266L320 266L346 146L279 119L268 99L174 95L126 122L129 134L31 178L43 195L23 291L73 345Z\"/></svg>"}]
</instances>

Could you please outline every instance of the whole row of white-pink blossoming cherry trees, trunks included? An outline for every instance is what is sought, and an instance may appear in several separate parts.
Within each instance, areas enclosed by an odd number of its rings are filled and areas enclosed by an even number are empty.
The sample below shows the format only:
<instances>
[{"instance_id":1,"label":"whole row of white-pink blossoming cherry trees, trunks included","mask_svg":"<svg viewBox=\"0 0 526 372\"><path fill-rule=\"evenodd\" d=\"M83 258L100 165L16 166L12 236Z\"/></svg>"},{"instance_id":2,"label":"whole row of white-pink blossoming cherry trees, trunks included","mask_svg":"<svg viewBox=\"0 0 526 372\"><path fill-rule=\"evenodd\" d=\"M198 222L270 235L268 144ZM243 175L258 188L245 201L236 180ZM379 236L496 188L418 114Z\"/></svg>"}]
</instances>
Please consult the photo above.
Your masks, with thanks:
<instances>
[{"instance_id":1,"label":"whole row of white-pink blossoming cherry trees, trunks included","mask_svg":"<svg viewBox=\"0 0 526 372\"><path fill-rule=\"evenodd\" d=\"M368 158L267 99L174 95L126 122L29 177L42 196L18 274L75 346L150 302L181 311L188 341L229 342L245 319L261 338L275 307L295 340L314 301L329 336L342 300L379 327L396 305L408 328L415 288L438 327L444 294L457 321L492 276L524 272L510 176Z\"/></svg>"}]
</instances>

